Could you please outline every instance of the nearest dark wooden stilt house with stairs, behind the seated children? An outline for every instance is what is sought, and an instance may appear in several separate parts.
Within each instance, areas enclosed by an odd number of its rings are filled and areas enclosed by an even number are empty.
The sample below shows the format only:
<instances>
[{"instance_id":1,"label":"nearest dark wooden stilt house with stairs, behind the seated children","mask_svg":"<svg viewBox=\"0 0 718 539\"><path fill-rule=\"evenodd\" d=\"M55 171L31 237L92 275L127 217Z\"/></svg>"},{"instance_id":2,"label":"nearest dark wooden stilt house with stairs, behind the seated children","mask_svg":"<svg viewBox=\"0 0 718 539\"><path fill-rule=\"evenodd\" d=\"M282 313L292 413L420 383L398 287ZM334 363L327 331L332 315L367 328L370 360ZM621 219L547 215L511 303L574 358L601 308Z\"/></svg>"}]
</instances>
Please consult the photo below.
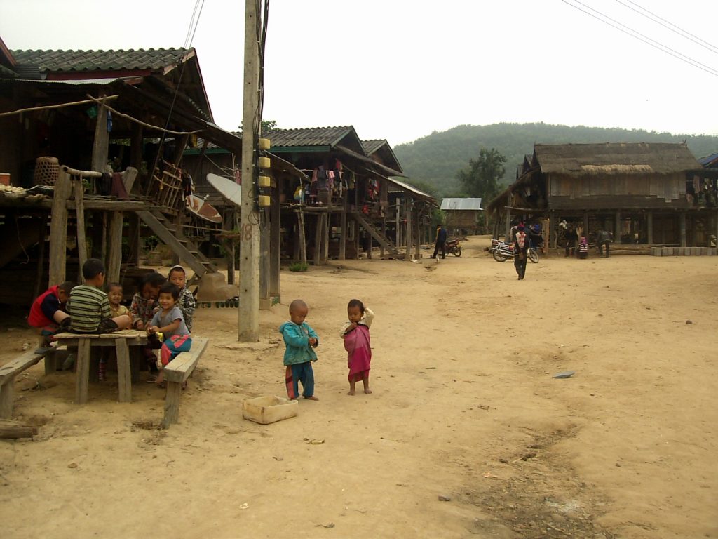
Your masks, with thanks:
<instances>
[{"instance_id":1,"label":"nearest dark wooden stilt house with stairs, behind the seated children","mask_svg":"<svg viewBox=\"0 0 718 539\"><path fill-rule=\"evenodd\" d=\"M195 50L0 45L0 170L14 186L0 190L0 303L77 279L87 257L121 280L148 236L196 275L215 271L185 235L182 155L196 137L233 152L241 139L213 123Z\"/></svg>"}]
</instances>

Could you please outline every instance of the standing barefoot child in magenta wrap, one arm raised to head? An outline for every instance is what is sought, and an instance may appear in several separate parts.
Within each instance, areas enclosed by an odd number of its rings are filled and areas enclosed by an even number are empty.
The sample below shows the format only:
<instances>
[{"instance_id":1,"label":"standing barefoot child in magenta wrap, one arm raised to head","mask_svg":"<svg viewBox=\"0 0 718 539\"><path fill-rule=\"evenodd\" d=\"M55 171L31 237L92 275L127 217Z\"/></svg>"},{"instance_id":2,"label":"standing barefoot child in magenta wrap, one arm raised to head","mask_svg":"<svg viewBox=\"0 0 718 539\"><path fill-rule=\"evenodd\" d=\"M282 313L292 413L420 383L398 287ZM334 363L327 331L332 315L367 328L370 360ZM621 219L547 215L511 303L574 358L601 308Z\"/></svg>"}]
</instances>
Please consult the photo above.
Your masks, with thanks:
<instances>
[{"instance_id":1,"label":"standing barefoot child in magenta wrap, one arm raised to head","mask_svg":"<svg viewBox=\"0 0 718 539\"><path fill-rule=\"evenodd\" d=\"M347 305L349 321L342 327L344 349L347 351L347 367L349 368L349 395L354 395L355 384L361 380L364 392L369 395L369 369L371 363L371 341L369 328L374 320L374 313L365 307L360 300L351 300Z\"/></svg>"}]
</instances>

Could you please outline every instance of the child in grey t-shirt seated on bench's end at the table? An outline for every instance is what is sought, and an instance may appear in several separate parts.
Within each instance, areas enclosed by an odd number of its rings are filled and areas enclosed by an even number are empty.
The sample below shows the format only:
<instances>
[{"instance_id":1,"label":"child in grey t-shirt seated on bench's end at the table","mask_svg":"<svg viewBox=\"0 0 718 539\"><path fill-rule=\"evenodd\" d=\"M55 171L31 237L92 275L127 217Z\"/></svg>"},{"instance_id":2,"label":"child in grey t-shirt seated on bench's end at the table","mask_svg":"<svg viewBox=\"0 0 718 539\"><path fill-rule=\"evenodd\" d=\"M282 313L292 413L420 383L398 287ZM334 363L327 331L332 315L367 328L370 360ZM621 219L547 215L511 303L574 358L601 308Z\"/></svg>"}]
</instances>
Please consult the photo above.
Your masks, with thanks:
<instances>
[{"instance_id":1,"label":"child in grey t-shirt seated on bench's end at the table","mask_svg":"<svg viewBox=\"0 0 718 539\"><path fill-rule=\"evenodd\" d=\"M164 367L169 361L180 355L180 352L190 351L192 338L190 331L182 317L182 310L177 306L180 299L180 289L177 285L167 282L159 288L159 306L161 310L155 313L149 326L147 335L162 342L159 351L159 359L162 362L162 370L159 371L154 382L164 387Z\"/></svg>"}]
</instances>

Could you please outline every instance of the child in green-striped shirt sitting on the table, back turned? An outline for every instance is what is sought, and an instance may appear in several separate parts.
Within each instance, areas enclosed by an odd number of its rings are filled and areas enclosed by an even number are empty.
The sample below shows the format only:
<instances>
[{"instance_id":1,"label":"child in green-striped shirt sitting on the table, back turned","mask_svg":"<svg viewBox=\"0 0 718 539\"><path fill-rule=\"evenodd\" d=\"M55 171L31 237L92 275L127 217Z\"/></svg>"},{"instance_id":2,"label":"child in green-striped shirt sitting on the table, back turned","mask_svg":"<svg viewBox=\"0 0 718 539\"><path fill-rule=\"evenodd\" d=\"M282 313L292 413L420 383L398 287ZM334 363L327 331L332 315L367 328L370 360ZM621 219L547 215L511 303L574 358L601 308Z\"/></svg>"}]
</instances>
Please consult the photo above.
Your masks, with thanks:
<instances>
[{"instance_id":1,"label":"child in green-striped shirt sitting on the table, back turned","mask_svg":"<svg viewBox=\"0 0 718 539\"><path fill-rule=\"evenodd\" d=\"M112 333L129 328L132 323L129 315L113 318L110 300L101 290L105 283L105 264L96 258L88 259L83 264L83 278L85 284L74 287L67 299L67 313L72 318L70 331L85 334Z\"/></svg>"}]
</instances>

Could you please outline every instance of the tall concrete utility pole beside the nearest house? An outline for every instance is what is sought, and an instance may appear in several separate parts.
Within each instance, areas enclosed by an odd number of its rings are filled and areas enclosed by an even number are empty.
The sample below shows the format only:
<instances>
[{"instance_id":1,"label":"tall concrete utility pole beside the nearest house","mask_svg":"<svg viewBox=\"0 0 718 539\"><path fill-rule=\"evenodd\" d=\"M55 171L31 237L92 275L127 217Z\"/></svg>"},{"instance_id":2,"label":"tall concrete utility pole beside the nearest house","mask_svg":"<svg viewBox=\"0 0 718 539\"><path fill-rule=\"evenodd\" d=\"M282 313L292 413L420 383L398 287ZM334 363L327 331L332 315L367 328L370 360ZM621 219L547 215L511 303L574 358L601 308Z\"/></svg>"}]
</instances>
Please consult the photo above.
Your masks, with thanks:
<instances>
[{"instance_id":1,"label":"tall concrete utility pole beside the nearest house","mask_svg":"<svg viewBox=\"0 0 718 539\"><path fill-rule=\"evenodd\" d=\"M239 259L239 334L241 342L259 340L259 213L256 208L256 137L259 114L259 42L256 0L245 1L244 91L242 115L242 206Z\"/></svg>"}]
</instances>

